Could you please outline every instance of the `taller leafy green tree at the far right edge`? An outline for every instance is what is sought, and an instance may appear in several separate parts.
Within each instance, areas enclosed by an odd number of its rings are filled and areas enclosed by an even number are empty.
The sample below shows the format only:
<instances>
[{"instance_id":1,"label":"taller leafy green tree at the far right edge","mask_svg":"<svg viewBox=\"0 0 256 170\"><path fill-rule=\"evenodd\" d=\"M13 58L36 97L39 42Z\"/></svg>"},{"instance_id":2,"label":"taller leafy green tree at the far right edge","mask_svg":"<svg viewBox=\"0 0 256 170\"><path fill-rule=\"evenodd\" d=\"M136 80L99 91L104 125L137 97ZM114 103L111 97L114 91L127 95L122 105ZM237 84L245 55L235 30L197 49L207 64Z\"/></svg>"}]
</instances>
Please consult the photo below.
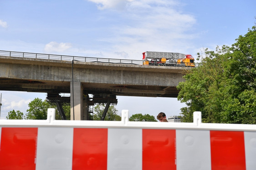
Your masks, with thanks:
<instances>
[{"instance_id":1,"label":"taller leafy green tree at the far right edge","mask_svg":"<svg viewBox=\"0 0 256 170\"><path fill-rule=\"evenodd\" d=\"M231 51L225 69L230 96L225 97L223 116L228 123L256 124L256 27L240 35Z\"/></svg>"}]
</instances>

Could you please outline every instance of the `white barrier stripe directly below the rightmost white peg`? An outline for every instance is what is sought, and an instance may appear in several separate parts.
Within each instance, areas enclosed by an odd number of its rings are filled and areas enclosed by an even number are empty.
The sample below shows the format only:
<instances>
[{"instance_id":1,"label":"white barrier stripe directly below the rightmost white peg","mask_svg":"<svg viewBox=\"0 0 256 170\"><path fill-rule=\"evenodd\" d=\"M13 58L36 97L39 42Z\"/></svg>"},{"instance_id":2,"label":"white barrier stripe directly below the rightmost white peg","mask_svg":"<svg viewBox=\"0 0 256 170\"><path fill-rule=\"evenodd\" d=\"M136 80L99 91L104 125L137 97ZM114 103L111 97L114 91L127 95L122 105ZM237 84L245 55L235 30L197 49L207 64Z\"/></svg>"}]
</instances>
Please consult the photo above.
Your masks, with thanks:
<instances>
[{"instance_id":1,"label":"white barrier stripe directly below the rightmost white peg","mask_svg":"<svg viewBox=\"0 0 256 170\"><path fill-rule=\"evenodd\" d=\"M210 131L176 130L177 170L211 170Z\"/></svg>"}]
</instances>

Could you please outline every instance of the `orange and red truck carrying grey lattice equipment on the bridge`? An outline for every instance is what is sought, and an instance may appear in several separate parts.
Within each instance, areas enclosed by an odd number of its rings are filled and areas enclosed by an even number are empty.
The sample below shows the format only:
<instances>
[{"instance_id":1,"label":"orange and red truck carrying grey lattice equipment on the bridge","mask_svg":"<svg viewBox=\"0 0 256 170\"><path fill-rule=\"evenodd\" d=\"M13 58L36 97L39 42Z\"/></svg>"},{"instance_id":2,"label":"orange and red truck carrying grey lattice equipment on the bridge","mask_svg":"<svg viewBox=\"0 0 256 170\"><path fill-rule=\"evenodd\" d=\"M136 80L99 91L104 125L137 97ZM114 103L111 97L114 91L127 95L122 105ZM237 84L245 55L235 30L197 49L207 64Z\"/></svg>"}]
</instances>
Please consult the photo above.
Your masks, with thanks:
<instances>
[{"instance_id":1,"label":"orange and red truck carrying grey lattice equipment on the bridge","mask_svg":"<svg viewBox=\"0 0 256 170\"><path fill-rule=\"evenodd\" d=\"M146 51L142 54L143 65L195 67L195 59L192 55L153 51Z\"/></svg>"}]
</instances>

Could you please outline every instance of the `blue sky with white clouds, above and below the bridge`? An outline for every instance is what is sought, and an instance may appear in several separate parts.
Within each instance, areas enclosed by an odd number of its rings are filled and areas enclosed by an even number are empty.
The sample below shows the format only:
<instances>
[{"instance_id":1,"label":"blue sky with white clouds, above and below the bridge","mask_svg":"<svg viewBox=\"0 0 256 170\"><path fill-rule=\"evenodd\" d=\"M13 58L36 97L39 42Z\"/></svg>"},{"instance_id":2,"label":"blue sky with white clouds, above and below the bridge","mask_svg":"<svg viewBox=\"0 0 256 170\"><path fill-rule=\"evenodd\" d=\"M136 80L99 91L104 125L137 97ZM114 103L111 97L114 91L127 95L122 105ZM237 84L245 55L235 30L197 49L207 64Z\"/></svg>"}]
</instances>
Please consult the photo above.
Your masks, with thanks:
<instances>
[{"instance_id":1,"label":"blue sky with white clouds, above and below the bridge","mask_svg":"<svg viewBox=\"0 0 256 170\"><path fill-rule=\"evenodd\" d=\"M256 0L0 0L0 50L142 59L234 44L256 23ZM46 93L2 93L1 119ZM179 115L177 98L118 96L118 114Z\"/></svg>"}]
</instances>

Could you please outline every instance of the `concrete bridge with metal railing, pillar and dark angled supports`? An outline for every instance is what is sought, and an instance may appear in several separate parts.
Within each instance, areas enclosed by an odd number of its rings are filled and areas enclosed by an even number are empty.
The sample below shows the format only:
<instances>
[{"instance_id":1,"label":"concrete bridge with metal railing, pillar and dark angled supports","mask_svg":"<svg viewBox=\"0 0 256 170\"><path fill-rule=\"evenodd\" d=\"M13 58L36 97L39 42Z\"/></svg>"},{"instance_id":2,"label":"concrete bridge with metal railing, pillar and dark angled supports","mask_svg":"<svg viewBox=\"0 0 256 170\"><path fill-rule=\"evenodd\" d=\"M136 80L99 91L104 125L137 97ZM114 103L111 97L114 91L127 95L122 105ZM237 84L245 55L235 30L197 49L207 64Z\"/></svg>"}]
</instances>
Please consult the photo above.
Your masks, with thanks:
<instances>
[{"instance_id":1,"label":"concrete bridge with metal railing, pillar and dark angled supports","mask_svg":"<svg viewBox=\"0 0 256 170\"><path fill-rule=\"evenodd\" d=\"M61 102L70 102L71 120L88 120L89 106L107 103L107 112L116 96L177 97L176 86L187 69L148 66L142 60L0 51L0 90L46 92L60 113Z\"/></svg>"}]
</instances>

